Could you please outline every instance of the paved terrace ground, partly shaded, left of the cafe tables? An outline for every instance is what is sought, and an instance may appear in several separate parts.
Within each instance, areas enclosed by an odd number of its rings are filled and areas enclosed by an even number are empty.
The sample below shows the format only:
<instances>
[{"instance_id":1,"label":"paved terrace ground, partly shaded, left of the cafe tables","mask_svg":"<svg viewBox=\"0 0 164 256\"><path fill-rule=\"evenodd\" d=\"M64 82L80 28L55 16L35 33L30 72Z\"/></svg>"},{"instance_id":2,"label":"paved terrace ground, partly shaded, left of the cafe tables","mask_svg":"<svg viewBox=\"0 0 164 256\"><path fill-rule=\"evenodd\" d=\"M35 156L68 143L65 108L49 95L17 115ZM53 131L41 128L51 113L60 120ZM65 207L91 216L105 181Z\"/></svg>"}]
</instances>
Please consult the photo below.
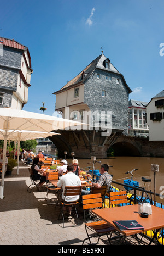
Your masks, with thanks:
<instances>
[{"instance_id":1,"label":"paved terrace ground, partly shaded, left of the cafe tables","mask_svg":"<svg viewBox=\"0 0 164 256\"><path fill-rule=\"evenodd\" d=\"M28 166L20 166L19 175L14 169L11 176L5 176L4 199L0 199L0 245L81 245L86 238L83 214L79 213L79 226L72 218L63 229L55 195L50 195L53 200L48 204L45 190L33 188L27 192L30 184ZM107 245L107 237L99 244Z\"/></svg>"}]
</instances>

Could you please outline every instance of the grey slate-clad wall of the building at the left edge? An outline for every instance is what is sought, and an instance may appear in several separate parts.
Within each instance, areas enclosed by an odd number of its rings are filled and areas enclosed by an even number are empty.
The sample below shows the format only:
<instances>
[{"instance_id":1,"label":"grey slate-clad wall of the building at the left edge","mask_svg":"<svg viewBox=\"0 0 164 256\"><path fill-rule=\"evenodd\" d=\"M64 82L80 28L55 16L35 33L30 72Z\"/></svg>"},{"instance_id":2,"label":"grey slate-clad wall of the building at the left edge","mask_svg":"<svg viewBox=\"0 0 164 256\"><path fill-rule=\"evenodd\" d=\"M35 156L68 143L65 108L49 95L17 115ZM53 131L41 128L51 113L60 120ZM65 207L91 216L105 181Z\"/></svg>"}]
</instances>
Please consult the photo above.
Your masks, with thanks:
<instances>
[{"instance_id":1,"label":"grey slate-clad wall of the building at the left edge","mask_svg":"<svg viewBox=\"0 0 164 256\"><path fill-rule=\"evenodd\" d=\"M0 107L11 107L13 91L17 89L17 79L21 69L22 52L3 46L0 56L0 92L4 92L4 104Z\"/></svg>"}]
</instances>

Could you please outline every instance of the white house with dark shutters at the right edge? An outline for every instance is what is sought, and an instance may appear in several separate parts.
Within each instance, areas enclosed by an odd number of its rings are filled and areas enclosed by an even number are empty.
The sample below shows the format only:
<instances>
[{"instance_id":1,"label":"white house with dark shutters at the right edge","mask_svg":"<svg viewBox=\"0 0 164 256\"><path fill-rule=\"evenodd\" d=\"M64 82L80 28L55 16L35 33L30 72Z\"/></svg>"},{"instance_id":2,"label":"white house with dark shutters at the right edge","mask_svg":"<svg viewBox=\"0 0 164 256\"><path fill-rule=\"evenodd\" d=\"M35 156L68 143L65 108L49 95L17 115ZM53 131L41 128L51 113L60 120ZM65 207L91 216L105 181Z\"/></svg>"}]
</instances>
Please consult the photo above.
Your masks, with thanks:
<instances>
[{"instance_id":1,"label":"white house with dark shutters at the right edge","mask_svg":"<svg viewBox=\"0 0 164 256\"><path fill-rule=\"evenodd\" d=\"M164 90L151 98L147 105L149 140L164 141Z\"/></svg>"}]
</instances>

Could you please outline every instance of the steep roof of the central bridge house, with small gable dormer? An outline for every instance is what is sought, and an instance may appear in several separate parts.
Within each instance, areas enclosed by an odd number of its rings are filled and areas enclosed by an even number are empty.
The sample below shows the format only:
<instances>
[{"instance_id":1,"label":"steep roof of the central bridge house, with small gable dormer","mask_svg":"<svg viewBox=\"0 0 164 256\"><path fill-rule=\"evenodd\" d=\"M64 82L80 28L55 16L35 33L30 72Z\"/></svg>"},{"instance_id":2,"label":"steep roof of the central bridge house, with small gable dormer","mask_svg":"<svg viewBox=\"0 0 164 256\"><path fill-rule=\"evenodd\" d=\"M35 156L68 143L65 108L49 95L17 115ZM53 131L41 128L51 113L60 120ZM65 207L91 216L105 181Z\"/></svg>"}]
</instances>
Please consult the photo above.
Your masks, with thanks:
<instances>
[{"instance_id":1,"label":"steep roof of the central bridge house, with small gable dormer","mask_svg":"<svg viewBox=\"0 0 164 256\"><path fill-rule=\"evenodd\" d=\"M104 69L107 70L104 66L103 66L103 62L104 60L106 60L107 58L104 56L104 54L99 55L96 59L92 60L92 62L86 66L85 69L83 69L77 76L75 76L72 80L70 80L69 82L67 82L67 84L65 86L63 86L59 91L54 92L53 94L57 94L58 92L61 92L62 90L65 90L69 87L78 85L79 83L84 83L93 73L93 71L95 71L95 69ZM122 76L122 78L124 79L124 76L119 73L118 70L116 70L116 68L112 65L112 63L110 63L110 69L108 69L108 71L116 73L116 74L120 74ZM84 73L84 76L82 76ZM126 84L126 81L124 79L124 82ZM128 90L130 92L131 89L130 87L128 87L128 85L126 84Z\"/></svg>"}]
</instances>

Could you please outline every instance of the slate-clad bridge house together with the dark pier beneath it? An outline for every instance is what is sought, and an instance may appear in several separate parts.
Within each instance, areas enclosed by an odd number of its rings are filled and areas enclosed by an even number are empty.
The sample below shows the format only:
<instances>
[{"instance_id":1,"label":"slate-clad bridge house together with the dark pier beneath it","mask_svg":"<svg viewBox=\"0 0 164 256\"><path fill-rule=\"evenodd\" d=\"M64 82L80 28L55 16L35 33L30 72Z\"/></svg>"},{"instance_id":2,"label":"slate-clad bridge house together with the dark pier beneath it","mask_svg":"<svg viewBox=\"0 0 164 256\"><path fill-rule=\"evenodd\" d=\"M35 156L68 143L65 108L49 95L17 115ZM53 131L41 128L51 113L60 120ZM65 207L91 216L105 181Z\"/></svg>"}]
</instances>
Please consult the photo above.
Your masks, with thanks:
<instances>
[{"instance_id":1,"label":"slate-clad bridge house together with the dark pier beneath it","mask_svg":"<svg viewBox=\"0 0 164 256\"><path fill-rule=\"evenodd\" d=\"M52 141L58 155L106 158L116 137L128 135L128 96L124 76L102 52L56 95L55 110L63 118L89 124L87 130L62 131Z\"/></svg>"}]
</instances>

